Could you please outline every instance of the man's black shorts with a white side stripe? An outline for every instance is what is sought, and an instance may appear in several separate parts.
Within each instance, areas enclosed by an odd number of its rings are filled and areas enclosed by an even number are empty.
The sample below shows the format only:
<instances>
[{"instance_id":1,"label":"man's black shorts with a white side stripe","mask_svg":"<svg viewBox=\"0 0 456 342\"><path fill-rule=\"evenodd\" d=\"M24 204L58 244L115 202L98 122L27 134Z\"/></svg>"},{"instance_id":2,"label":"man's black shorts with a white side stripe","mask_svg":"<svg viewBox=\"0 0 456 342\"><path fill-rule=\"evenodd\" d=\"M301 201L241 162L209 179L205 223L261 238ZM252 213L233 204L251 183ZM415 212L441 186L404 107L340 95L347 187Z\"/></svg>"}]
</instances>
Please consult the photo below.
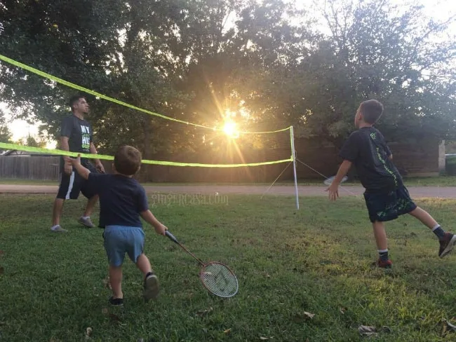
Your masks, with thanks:
<instances>
[{"instance_id":1,"label":"man's black shorts with a white side stripe","mask_svg":"<svg viewBox=\"0 0 456 342\"><path fill-rule=\"evenodd\" d=\"M90 170L90 172L98 172L92 164L84 165ZM76 200L79 197L79 193L82 193L86 198L92 198L96 195L93 189L88 186L88 181L79 176L73 168L71 175L67 175L62 171L62 180L60 181L59 191L57 198L63 200Z\"/></svg>"}]
</instances>

